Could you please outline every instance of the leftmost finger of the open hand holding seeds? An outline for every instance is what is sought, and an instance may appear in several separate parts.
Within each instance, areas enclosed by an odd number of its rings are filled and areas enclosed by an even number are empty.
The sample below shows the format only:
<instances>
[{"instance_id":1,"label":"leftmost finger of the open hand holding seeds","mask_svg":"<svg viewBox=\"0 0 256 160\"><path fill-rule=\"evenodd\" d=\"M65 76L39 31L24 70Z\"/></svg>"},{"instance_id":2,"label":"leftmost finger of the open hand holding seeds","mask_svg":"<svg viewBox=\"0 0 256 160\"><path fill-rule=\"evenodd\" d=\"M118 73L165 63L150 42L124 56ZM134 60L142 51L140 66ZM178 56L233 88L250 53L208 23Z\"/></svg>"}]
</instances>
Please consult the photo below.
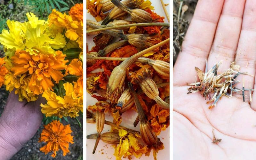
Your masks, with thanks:
<instances>
[{"instance_id":1,"label":"leftmost finger of the open hand holding seeds","mask_svg":"<svg viewBox=\"0 0 256 160\"><path fill-rule=\"evenodd\" d=\"M220 17L223 0L199 0L182 43L182 52L173 70L173 84L185 85L195 81L194 67L205 67L216 26Z\"/></svg>"}]
</instances>

